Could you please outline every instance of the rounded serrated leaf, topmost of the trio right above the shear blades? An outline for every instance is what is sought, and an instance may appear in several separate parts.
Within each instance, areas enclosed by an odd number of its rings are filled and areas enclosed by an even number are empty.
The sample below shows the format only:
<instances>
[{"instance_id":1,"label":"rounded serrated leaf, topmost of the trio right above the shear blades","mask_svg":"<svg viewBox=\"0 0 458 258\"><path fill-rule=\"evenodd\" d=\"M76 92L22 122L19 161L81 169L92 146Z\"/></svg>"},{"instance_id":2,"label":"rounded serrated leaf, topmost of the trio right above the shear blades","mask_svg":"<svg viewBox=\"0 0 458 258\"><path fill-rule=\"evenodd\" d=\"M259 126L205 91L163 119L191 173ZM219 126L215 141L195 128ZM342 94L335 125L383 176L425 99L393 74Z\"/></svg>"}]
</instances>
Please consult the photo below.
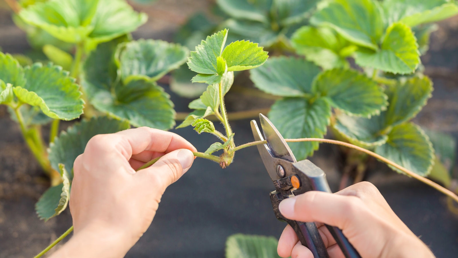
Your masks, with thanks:
<instances>
[{"instance_id":1,"label":"rounded serrated leaf, topmost of the trio right above the shear blades","mask_svg":"<svg viewBox=\"0 0 458 258\"><path fill-rule=\"evenodd\" d=\"M313 89L326 96L333 107L352 115L378 115L388 104L382 87L355 70L336 68L325 71L316 77Z\"/></svg>"}]
</instances>

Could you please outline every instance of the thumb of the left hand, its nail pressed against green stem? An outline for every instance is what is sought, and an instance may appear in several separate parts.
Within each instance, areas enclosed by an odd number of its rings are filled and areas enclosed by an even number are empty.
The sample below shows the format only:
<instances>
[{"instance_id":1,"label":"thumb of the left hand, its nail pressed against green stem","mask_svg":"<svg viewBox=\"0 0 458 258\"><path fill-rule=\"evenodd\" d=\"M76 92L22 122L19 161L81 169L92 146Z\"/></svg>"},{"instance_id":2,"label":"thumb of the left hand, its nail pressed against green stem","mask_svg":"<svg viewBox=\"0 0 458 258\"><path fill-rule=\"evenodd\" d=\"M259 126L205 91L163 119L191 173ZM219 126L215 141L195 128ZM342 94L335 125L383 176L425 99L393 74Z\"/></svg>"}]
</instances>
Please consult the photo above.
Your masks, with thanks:
<instances>
[{"instance_id":1,"label":"thumb of the left hand, its nail pressed against green stem","mask_svg":"<svg viewBox=\"0 0 458 258\"><path fill-rule=\"evenodd\" d=\"M161 157L151 167L142 169L136 173L139 180L148 180L154 184L156 189L165 191L167 186L191 168L194 161L194 154L188 149L172 151Z\"/></svg>"}]
</instances>

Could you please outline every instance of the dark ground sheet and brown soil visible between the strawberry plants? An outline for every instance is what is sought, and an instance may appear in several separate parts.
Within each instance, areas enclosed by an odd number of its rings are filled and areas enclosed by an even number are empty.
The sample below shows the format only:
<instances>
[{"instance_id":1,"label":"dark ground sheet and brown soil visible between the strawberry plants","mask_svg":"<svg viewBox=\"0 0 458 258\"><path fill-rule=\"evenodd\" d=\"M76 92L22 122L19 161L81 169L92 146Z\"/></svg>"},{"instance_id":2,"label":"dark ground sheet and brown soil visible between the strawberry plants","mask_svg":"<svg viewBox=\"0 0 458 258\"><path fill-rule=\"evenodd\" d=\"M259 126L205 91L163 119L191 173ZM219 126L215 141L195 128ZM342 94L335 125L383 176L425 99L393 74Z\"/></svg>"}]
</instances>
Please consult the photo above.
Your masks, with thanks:
<instances>
[{"instance_id":1,"label":"dark ground sheet and brown soil visible between the strawberry plants","mask_svg":"<svg viewBox=\"0 0 458 258\"><path fill-rule=\"evenodd\" d=\"M148 12L150 20L134 36L170 41L179 24L209 2L159 0L153 6L136 6ZM25 34L14 26L4 9L0 9L0 24L0 46L5 52L28 49ZM430 52L423 57L426 71L434 79L435 91L415 122L458 139L458 76L454 73L458 63L458 18L440 25L432 36ZM190 100L171 95L178 112L189 111ZM268 107L270 102L238 93L229 93L227 100L229 111ZM237 145L253 140L249 119L231 124ZM69 125L62 123L61 129ZM200 151L216 141L211 135L197 135L191 128L172 131ZM343 166L338 147L322 144L311 160L327 173L336 191ZM447 210L442 194L394 173L381 163L376 163L366 180L379 188L395 213L438 258L456 257L458 216ZM25 146L18 126L11 121L6 108L0 107L0 258L33 257L71 226L68 209L46 223L36 216L34 204L47 187L48 182ZM126 257L223 258L224 242L231 234L279 237L284 223L273 214L268 198L272 190L272 182L254 147L237 152L234 163L224 170L216 163L196 159L183 178L167 189L153 224Z\"/></svg>"}]
</instances>

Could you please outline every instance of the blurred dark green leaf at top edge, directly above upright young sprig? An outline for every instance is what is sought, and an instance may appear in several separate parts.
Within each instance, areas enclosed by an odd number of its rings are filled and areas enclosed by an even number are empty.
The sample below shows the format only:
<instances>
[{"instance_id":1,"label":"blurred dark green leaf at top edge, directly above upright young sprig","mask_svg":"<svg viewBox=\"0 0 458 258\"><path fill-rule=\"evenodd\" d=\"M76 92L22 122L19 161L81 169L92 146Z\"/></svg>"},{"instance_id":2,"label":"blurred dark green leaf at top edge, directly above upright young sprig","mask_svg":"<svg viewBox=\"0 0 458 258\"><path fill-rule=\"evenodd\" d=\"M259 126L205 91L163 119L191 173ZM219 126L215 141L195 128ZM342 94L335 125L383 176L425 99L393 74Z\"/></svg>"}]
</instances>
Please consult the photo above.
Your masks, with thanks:
<instances>
[{"instance_id":1,"label":"blurred dark green leaf at top edge, directly above upright young sprig","mask_svg":"<svg viewBox=\"0 0 458 258\"><path fill-rule=\"evenodd\" d=\"M229 16L238 19L248 19L256 22L268 23L267 12L271 1L250 0L217 0L219 8Z\"/></svg>"}]
</instances>

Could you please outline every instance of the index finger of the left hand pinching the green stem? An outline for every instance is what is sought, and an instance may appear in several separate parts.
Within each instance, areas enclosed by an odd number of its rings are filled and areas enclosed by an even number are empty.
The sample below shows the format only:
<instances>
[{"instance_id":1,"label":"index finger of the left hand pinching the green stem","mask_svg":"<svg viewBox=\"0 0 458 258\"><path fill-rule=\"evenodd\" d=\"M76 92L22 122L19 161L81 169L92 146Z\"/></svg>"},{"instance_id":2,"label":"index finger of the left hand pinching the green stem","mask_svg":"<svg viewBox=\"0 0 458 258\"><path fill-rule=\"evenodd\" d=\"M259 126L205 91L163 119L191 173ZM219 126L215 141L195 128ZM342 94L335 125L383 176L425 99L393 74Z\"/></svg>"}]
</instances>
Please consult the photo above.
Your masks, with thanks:
<instances>
[{"instance_id":1,"label":"index finger of the left hand pinching the green stem","mask_svg":"<svg viewBox=\"0 0 458 258\"><path fill-rule=\"evenodd\" d=\"M125 146L128 152L126 153L126 156L128 156L126 158L130 158L132 155L141 153L142 151L154 151L165 154L178 149L197 151L190 142L180 135L149 127L129 129L118 132L116 135L122 135L129 142L130 150L128 146Z\"/></svg>"}]
</instances>

